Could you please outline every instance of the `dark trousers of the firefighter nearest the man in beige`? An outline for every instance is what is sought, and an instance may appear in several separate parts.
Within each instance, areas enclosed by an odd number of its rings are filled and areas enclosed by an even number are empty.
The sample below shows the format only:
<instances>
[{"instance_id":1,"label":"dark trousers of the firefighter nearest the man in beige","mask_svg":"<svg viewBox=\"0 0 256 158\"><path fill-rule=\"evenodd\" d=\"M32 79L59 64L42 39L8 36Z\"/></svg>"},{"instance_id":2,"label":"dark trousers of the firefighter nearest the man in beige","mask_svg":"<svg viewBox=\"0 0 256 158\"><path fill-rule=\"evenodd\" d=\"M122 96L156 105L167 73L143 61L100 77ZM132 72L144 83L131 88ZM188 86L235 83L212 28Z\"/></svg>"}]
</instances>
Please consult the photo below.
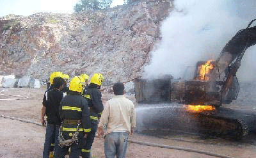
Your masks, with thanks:
<instances>
[{"instance_id":1,"label":"dark trousers of the firefighter nearest the man in beige","mask_svg":"<svg viewBox=\"0 0 256 158\"><path fill-rule=\"evenodd\" d=\"M94 141L95 134L97 132L97 127L98 127L98 122L92 121L92 130L86 138L86 144L82 147L81 156L83 158L90 158L90 153L92 152L91 151L92 143Z\"/></svg>"}]
</instances>

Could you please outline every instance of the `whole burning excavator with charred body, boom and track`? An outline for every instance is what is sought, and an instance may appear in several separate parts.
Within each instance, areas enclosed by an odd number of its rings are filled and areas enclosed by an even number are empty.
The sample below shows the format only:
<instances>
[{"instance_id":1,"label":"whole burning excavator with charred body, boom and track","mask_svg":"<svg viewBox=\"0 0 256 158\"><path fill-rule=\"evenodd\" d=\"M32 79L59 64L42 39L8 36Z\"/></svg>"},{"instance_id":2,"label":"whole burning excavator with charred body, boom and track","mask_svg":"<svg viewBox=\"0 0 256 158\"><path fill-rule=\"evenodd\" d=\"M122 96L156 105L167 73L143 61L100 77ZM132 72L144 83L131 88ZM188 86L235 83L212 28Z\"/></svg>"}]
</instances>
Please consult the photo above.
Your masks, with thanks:
<instances>
[{"instance_id":1,"label":"whole burning excavator with charred body, boom and track","mask_svg":"<svg viewBox=\"0 0 256 158\"><path fill-rule=\"evenodd\" d=\"M250 27L255 20L237 32L218 59L199 61L193 79L136 79L136 102L184 104L205 133L243 138L248 132L255 132L256 113L221 107L230 104L239 93L236 72L246 49L256 43L256 26Z\"/></svg>"}]
</instances>

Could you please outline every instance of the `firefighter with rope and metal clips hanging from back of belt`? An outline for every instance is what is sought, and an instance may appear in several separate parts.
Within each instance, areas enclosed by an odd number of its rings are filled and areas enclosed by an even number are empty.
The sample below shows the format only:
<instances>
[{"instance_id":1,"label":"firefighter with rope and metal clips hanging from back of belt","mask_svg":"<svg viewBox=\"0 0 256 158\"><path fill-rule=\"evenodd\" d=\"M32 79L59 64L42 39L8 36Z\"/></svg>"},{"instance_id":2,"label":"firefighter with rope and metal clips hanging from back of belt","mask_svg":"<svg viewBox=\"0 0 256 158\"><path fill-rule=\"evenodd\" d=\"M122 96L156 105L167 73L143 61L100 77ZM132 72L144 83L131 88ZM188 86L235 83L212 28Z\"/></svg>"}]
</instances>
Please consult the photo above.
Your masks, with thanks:
<instances>
[{"instance_id":1,"label":"firefighter with rope and metal clips hanging from back of belt","mask_svg":"<svg viewBox=\"0 0 256 158\"><path fill-rule=\"evenodd\" d=\"M88 102L81 95L83 83L75 76L69 85L69 93L61 100L60 118L62 124L58 139L58 146L54 157L65 157L70 148L70 158L79 157L81 146L86 143L86 138L91 131L90 111Z\"/></svg>"}]
</instances>

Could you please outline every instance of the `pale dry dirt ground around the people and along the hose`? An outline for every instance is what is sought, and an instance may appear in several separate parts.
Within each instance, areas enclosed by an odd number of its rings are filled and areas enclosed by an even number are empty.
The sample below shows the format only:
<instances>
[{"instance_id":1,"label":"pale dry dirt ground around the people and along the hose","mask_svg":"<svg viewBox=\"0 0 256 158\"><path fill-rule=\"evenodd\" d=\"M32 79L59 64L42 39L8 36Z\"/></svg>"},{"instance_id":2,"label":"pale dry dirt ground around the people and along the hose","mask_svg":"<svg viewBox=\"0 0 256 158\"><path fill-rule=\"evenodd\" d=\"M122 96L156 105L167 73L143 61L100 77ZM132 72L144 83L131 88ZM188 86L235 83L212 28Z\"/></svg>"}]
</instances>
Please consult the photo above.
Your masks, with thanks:
<instances>
[{"instance_id":1,"label":"pale dry dirt ground around the people and along the hose","mask_svg":"<svg viewBox=\"0 0 256 158\"><path fill-rule=\"evenodd\" d=\"M42 157L45 127L38 124L40 124L44 91L45 88L0 88L1 158ZM106 102L111 97L111 94L102 94L103 102ZM134 101L133 95L127 95L127 97ZM20 118L35 123L21 122L19 120L5 118L4 116ZM256 155L256 138L254 136L246 138L244 141L236 142L220 138L202 139L198 136L189 136L186 134L157 137L134 133L129 139L132 141L157 143L160 145L177 146L220 154L218 157L248 158L255 157ZM104 157L103 138L95 138L92 151L93 157ZM207 158L214 156L196 152L186 152L184 150L159 148L157 146L139 145L130 142L127 150L127 158L131 157Z\"/></svg>"}]
</instances>

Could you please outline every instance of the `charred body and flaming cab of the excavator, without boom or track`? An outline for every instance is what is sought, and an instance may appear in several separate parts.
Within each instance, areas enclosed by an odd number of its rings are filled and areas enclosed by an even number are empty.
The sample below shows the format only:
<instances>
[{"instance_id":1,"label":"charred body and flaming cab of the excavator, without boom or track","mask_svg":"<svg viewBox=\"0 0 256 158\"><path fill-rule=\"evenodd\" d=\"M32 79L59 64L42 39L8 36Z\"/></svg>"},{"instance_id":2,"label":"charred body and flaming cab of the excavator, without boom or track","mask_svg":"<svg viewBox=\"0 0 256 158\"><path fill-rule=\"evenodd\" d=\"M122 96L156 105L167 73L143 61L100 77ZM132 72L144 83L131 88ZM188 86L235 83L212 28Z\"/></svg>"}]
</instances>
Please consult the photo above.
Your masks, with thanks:
<instances>
[{"instance_id":1,"label":"charred body and flaming cab of the excavator, without boom or track","mask_svg":"<svg viewBox=\"0 0 256 158\"><path fill-rule=\"evenodd\" d=\"M214 81L211 80L211 71L218 67L215 61L198 61L196 63L193 78L189 79L136 79L136 102L144 104L156 104L163 102L179 102L191 105L221 106L230 104L237 98L239 83L236 75L232 76L232 84L226 88L225 76L219 74ZM186 73L191 74L191 73Z\"/></svg>"}]
</instances>

